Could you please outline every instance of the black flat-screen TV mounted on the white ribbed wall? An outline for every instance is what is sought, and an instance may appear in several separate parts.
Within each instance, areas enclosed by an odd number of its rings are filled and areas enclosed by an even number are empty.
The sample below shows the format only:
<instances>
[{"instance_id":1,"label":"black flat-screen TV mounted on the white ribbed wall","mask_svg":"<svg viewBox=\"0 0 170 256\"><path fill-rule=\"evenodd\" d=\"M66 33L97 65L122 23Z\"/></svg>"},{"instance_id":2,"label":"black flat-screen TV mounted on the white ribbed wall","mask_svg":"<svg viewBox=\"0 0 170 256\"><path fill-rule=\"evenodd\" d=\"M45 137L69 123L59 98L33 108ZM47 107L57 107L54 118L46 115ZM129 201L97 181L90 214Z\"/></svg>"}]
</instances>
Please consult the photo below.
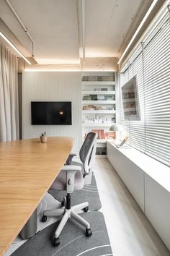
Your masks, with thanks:
<instances>
[{"instance_id":1,"label":"black flat-screen TV mounted on the white ribbed wall","mask_svg":"<svg viewBox=\"0 0 170 256\"><path fill-rule=\"evenodd\" d=\"M71 102L32 101L32 124L71 124Z\"/></svg>"}]
</instances>

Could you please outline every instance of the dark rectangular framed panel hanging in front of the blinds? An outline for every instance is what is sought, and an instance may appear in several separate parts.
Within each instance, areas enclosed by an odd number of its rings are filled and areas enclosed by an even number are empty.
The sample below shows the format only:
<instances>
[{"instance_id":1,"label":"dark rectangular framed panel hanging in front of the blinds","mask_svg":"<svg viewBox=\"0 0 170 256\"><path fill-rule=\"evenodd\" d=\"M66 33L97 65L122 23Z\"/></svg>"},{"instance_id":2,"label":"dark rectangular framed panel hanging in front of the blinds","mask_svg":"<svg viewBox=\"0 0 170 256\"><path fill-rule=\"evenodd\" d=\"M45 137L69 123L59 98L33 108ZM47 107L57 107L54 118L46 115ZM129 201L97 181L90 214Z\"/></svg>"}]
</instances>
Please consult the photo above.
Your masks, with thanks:
<instances>
[{"instance_id":1,"label":"dark rectangular framed panel hanging in front of the blinds","mask_svg":"<svg viewBox=\"0 0 170 256\"><path fill-rule=\"evenodd\" d=\"M122 86L122 108L124 119L140 121L137 77L132 77Z\"/></svg>"}]
</instances>

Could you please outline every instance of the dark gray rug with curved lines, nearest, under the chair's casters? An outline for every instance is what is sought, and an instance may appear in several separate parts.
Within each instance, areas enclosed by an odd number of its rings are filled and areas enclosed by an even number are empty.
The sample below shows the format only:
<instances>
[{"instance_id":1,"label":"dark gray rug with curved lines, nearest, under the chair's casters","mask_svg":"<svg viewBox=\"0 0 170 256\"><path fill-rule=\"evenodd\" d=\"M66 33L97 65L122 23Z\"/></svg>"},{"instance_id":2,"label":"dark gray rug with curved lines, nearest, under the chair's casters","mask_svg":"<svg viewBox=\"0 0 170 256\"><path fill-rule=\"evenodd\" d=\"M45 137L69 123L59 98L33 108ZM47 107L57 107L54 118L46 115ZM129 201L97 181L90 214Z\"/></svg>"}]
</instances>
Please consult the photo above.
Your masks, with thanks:
<instances>
[{"instance_id":1,"label":"dark gray rug with curved lines, nearest, under the chair's casters","mask_svg":"<svg viewBox=\"0 0 170 256\"><path fill-rule=\"evenodd\" d=\"M85 229L69 220L61 232L61 244L53 247L53 234L59 221L53 223L25 242L12 256L99 256L112 255L104 216L99 212L81 213L91 223L92 236L85 236Z\"/></svg>"}]
</instances>

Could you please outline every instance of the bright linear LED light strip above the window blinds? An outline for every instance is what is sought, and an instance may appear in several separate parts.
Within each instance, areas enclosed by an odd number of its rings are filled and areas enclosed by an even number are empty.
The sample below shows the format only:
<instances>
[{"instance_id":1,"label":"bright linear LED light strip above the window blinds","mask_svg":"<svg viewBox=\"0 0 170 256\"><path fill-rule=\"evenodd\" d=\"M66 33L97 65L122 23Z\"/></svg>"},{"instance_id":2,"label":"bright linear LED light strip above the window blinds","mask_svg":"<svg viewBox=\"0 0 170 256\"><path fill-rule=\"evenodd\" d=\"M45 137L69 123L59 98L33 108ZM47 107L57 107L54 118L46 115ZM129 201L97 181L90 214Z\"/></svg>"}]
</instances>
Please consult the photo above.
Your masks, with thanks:
<instances>
[{"instance_id":1,"label":"bright linear LED light strip above the window blinds","mask_svg":"<svg viewBox=\"0 0 170 256\"><path fill-rule=\"evenodd\" d=\"M120 57L119 61L117 62L117 64L120 64L120 61L122 60L122 58L125 56L125 54L128 51L128 48L130 48L131 44L133 43L133 40L135 39L136 35L138 35L138 32L140 30L140 28L143 26L144 22L146 22L146 19L148 18L149 14L151 13L153 7L156 5L158 0L154 0L151 4L151 7L149 7L148 12L146 12L146 15L143 17L143 20L140 22L140 25L138 26L137 30L135 31L135 34L133 35L132 39L130 40L130 42L128 43L128 46L125 48L125 51L123 52L122 56Z\"/></svg>"}]
</instances>

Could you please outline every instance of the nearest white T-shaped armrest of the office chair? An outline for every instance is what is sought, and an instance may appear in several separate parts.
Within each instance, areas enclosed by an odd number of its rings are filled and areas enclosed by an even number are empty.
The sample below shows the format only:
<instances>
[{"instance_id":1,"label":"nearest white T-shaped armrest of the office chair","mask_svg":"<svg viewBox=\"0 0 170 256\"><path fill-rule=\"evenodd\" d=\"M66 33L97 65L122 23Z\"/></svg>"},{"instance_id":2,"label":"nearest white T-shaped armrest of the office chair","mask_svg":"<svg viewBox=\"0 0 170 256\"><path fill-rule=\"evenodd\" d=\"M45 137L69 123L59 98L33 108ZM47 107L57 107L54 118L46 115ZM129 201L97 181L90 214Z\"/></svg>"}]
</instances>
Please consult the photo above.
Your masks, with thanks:
<instances>
[{"instance_id":1,"label":"nearest white T-shaped armrest of the office chair","mask_svg":"<svg viewBox=\"0 0 170 256\"><path fill-rule=\"evenodd\" d=\"M61 171L66 171L67 174L67 193L73 193L74 176L77 171L81 171L81 166L63 166Z\"/></svg>"}]
</instances>

